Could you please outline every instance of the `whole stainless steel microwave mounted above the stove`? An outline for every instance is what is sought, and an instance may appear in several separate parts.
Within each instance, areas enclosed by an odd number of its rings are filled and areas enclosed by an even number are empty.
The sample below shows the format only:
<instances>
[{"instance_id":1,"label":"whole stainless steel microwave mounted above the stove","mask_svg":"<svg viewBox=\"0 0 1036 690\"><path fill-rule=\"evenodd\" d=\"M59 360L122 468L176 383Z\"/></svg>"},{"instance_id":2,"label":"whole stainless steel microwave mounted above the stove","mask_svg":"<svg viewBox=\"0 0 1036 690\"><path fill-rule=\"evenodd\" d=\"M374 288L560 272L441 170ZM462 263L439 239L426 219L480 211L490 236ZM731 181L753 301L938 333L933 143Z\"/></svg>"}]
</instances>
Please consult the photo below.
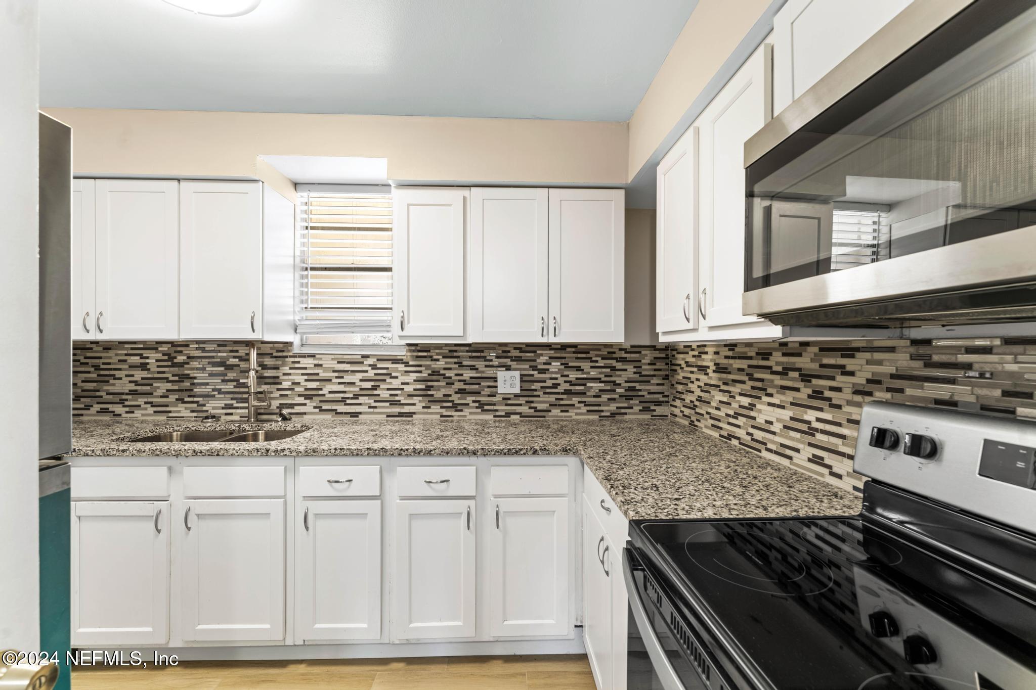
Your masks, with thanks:
<instances>
[{"instance_id":1,"label":"whole stainless steel microwave mounted above the stove","mask_svg":"<svg viewBox=\"0 0 1036 690\"><path fill-rule=\"evenodd\" d=\"M745 313L1036 321L1036 0L915 0L745 168Z\"/></svg>"}]
</instances>

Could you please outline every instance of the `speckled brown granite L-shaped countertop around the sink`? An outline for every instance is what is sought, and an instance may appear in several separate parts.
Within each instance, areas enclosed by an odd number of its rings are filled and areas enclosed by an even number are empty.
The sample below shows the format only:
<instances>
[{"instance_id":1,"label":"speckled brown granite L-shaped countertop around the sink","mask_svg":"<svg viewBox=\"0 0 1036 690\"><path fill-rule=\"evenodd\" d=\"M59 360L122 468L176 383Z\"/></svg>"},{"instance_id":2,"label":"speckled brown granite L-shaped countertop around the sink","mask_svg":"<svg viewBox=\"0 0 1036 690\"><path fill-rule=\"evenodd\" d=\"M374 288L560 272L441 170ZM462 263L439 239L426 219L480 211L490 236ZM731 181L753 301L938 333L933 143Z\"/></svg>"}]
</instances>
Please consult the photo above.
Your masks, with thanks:
<instances>
[{"instance_id":1,"label":"speckled brown granite L-shaped countertop around the sink","mask_svg":"<svg viewBox=\"0 0 1036 690\"><path fill-rule=\"evenodd\" d=\"M191 428L306 431L265 443L127 441ZM68 455L576 455L630 519L851 515L861 507L859 493L666 419L84 418L73 424Z\"/></svg>"}]
</instances>

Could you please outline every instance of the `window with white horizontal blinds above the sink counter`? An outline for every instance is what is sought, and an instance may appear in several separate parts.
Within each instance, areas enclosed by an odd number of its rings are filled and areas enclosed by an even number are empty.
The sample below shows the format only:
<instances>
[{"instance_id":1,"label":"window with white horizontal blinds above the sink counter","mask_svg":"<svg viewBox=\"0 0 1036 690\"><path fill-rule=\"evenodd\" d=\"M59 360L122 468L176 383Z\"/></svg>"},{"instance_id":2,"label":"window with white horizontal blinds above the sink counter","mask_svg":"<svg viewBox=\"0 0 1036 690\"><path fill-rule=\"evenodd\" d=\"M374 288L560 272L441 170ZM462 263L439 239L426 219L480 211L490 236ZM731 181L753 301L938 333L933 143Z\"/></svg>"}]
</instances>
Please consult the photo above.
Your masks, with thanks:
<instances>
[{"instance_id":1,"label":"window with white horizontal blinds above the sink counter","mask_svg":"<svg viewBox=\"0 0 1036 690\"><path fill-rule=\"evenodd\" d=\"M392 344L392 194L303 191L296 243L296 346L384 351Z\"/></svg>"}]
</instances>

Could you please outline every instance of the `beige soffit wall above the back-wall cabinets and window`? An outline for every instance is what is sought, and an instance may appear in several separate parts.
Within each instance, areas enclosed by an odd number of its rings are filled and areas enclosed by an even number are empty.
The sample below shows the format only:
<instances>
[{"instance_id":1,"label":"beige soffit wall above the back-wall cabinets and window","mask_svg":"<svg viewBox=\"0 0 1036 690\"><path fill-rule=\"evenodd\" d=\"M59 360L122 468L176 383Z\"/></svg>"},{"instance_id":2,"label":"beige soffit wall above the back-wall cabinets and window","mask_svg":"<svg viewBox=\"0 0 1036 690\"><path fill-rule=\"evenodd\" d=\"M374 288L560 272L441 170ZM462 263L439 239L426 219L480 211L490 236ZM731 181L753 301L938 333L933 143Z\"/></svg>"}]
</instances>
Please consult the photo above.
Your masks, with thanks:
<instances>
[{"instance_id":1,"label":"beige soffit wall above the back-wall cabinets and window","mask_svg":"<svg viewBox=\"0 0 1036 690\"><path fill-rule=\"evenodd\" d=\"M375 156L388 178L623 184L625 122L49 108L79 174L284 178L258 155ZM280 185L279 185L280 183Z\"/></svg>"}]
</instances>

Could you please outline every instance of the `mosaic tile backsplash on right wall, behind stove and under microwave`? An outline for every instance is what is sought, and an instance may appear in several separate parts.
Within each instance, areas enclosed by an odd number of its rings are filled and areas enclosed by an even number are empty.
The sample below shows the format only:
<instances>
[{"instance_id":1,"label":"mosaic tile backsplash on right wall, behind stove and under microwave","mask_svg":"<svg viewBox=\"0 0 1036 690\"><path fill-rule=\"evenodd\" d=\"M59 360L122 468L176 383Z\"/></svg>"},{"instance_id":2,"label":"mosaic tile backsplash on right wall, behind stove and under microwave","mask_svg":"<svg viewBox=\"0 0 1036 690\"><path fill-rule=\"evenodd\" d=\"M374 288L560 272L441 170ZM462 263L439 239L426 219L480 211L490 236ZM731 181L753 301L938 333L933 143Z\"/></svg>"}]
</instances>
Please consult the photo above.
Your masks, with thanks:
<instances>
[{"instance_id":1,"label":"mosaic tile backsplash on right wall, behind stove and under microwave","mask_svg":"<svg viewBox=\"0 0 1036 690\"><path fill-rule=\"evenodd\" d=\"M868 400L1036 419L1036 338L673 347L670 416L859 490Z\"/></svg>"}]
</instances>

